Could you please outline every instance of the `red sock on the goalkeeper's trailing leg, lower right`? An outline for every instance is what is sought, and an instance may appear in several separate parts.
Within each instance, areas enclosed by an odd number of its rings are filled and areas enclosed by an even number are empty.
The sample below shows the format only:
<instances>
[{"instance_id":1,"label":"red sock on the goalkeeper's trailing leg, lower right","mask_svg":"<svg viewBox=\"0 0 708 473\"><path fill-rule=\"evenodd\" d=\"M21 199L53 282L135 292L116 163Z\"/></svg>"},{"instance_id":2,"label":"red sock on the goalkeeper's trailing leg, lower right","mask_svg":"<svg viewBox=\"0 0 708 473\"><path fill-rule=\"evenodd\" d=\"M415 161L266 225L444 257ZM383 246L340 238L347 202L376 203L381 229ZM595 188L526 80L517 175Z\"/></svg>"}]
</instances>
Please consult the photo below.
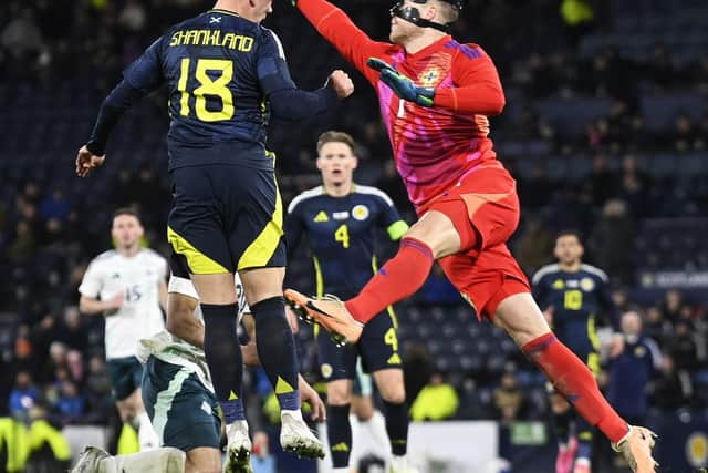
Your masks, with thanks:
<instances>
[{"instance_id":1,"label":"red sock on the goalkeeper's trailing leg, lower right","mask_svg":"<svg viewBox=\"0 0 708 473\"><path fill-rule=\"evenodd\" d=\"M596 425L610 441L617 442L627 433L627 423L602 395L590 369L553 333L530 341L522 350L583 419Z\"/></svg>"}]
</instances>

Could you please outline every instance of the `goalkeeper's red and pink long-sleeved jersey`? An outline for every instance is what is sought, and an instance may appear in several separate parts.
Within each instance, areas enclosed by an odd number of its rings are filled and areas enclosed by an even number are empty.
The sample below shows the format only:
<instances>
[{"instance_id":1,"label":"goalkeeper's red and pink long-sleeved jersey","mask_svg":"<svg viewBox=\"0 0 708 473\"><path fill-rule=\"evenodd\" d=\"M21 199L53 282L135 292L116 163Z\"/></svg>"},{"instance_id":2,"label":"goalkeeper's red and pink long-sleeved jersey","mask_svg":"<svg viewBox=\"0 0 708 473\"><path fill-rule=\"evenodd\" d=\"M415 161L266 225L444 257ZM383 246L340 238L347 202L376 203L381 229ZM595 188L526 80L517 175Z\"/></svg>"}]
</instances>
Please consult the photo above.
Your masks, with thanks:
<instances>
[{"instance_id":1,"label":"goalkeeper's red and pink long-sleeved jersey","mask_svg":"<svg viewBox=\"0 0 708 473\"><path fill-rule=\"evenodd\" d=\"M482 163L496 160L487 116L501 112L499 74L477 44L447 35L415 54L371 40L339 8L325 0L299 0L298 7L374 85L398 173L418 213ZM436 88L433 107L399 100L366 65L368 58L393 64L417 85Z\"/></svg>"}]
</instances>

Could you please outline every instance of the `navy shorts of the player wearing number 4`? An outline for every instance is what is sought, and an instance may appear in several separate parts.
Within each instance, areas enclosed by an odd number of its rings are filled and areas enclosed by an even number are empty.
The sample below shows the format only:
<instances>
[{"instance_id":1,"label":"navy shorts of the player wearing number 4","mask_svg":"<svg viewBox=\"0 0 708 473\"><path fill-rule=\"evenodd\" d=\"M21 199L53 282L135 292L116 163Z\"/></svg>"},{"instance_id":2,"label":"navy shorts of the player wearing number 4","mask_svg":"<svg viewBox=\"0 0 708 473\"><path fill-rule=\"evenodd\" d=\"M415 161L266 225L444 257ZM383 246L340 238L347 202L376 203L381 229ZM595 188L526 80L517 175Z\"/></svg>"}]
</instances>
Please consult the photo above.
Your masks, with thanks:
<instances>
[{"instance_id":1,"label":"navy shorts of the player wearing number 4","mask_svg":"<svg viewBox=\"0 0 708 473\"><path fill-rule=\"evenodd\" d=\"M330 335L317 331L320 372L325 382L340 379L356 379L356 358L362 357L364 371L400 369L396 316L393 310L382 312L364 326L362 338L352 346L337 347Z\"/></svg>"}]
</instances>

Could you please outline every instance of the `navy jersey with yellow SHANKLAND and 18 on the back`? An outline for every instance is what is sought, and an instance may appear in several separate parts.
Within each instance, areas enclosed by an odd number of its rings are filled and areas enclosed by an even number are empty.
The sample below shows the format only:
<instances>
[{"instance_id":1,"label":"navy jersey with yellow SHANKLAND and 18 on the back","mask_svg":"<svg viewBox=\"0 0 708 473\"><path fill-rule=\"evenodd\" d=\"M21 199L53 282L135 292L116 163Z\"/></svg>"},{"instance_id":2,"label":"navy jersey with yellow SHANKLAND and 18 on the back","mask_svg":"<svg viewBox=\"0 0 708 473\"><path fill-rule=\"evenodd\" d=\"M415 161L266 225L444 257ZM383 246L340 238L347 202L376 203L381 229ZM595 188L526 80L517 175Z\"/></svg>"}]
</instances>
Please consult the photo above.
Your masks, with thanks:
<instances>
[{"instance_id":1,"label":"navy jersey with yellow SHANKLAND and 18 on the back","mask_svg":"<svg viewBox=\"0 0 708 473\"><path fill-rule=\"evenodd\" d=\"M170 168L209 164L204 163L208 154L175 153L180 145L244 142L270 160L264 154L267 97L294 88L275 33L222 10L171 27L124 71L124 79L143 92L167 84Z\"/></svg>"}]
</instances>

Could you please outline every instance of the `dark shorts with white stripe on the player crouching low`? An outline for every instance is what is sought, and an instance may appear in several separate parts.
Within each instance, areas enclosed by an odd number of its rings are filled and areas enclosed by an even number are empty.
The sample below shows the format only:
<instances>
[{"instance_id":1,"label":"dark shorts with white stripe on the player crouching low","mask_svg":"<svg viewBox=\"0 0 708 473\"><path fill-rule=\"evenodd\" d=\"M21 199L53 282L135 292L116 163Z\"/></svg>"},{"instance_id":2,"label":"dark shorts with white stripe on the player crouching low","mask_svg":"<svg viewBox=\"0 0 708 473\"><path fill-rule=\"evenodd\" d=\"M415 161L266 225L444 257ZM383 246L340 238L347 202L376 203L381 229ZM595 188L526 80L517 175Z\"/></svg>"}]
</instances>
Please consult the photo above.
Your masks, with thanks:
<instances>
[{"instance_id":1,"label":"dark shorts with white stripe on the player crouching low","mask_svg":"<svg viewBox=\"0 0 708 473\"><path fill-rule=\"evenodd\" d=\"M143 402L162 445L184 452L200 446L220 448L217 399L187 368L148 358Z\"/></svg>"}]
</instances>

